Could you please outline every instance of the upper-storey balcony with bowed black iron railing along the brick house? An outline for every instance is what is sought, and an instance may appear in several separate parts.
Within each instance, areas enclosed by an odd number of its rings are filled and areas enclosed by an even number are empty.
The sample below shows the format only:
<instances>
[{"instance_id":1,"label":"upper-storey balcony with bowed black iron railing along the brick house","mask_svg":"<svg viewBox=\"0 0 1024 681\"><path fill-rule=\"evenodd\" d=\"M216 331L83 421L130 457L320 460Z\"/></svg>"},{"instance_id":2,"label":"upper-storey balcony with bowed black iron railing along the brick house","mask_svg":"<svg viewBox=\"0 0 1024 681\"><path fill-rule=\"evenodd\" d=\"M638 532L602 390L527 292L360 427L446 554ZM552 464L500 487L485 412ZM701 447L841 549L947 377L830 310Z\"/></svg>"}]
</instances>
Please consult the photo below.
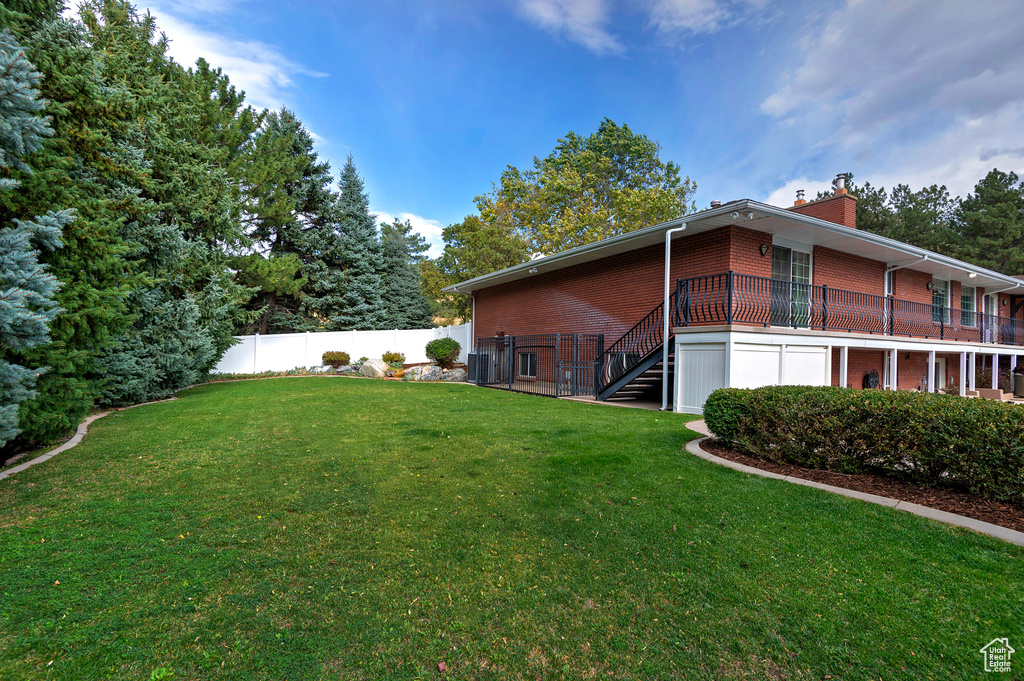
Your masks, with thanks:
<instances>
[{"instance_id":1,"label":"upper-storey balcony with bowed black iron railing along the brick house","mask_svg":"<svg viewBox=\"0 0 1024 681\"><path fill-rule=\"evenodd\" d=\"M676 281L672 325L752 325L1024 345L1024 322L732 271Z\"/></svg>"}]
</instances>

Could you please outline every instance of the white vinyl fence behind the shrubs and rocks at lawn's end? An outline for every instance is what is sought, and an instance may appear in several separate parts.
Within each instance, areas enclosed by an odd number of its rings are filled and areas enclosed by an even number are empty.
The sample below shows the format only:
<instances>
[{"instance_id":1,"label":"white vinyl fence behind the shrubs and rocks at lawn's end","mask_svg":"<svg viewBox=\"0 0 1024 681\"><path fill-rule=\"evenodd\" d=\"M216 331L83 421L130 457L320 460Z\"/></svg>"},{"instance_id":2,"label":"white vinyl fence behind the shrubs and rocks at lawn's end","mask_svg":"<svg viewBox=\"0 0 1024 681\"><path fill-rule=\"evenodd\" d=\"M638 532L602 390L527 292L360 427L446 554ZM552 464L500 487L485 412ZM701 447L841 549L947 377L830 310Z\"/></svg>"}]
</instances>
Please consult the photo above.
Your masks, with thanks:
<instances>
[{"instance_id":1,"label":"white vinyl fence behind the shrubs and rocks at lawn's end","mask_svg":"<svg viewBox=\"0 0 1024 681\"><path fill-rule=\"evenodd\" d=\"M306 334L237 336L241 342L228 348L213 370L218 374L260 374L284 372L302 367L319 367L329 350L348 352L354 363L359 357L379 359L385 352L402 352L408 364L429 361L427 343L435 338L454 338L465 363L470 347L468 324L438 329L406 331L328 331Z\"/></svg>"}]
</instances>

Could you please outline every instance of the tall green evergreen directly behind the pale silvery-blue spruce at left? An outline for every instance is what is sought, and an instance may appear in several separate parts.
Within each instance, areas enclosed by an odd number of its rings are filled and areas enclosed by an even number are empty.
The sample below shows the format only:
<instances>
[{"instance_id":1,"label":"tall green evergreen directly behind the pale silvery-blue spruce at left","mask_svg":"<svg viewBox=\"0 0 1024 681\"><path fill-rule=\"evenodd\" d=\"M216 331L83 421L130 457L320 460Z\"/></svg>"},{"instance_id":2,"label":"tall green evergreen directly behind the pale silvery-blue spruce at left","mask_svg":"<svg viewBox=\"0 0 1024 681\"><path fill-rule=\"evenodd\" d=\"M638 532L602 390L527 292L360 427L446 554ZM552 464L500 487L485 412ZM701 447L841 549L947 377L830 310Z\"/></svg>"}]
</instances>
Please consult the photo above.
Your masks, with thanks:
<instances>
[{"instance_id":1,"label":"tall green evergreen directly behind the pale silvery-blue spruce at left","mask_svg":"<svg viewBox=\"0 0 1024 681\"><path fill-rule=\"evenodd\" d=\"M82 27L45 17L25 26L31 33L19 41L43 75L40 93L54 134L31 160L36 172L6 198L0 220L67 207L77 216L63 228L63 248L40 256L60 282L55 298L63 311L50 325L51 342L24 351L27 366L49 369L37 382L36 397L22 403L23 432L8 446L67 433L100 393L96 357L127 328L124 298L139 283L125 259L129 246L118 225L135 205L130 187L145 174L128 143L123 112L130 95L104 81L99 55Z\"/></svg>"}]
</instances>

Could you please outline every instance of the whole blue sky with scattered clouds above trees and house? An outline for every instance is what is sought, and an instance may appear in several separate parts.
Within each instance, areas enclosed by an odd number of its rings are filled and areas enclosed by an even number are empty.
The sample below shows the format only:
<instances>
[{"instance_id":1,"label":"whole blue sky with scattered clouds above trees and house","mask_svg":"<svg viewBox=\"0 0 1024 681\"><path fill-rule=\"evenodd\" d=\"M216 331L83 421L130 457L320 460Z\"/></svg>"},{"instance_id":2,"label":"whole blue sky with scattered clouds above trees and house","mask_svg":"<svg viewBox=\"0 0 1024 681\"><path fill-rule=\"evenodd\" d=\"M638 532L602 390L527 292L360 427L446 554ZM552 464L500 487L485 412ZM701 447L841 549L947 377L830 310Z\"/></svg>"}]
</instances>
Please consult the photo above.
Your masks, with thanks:
<instances>
[{"instance_id":1,"label":"whole blue sky with scattered clouds above trees and house","mask_svg":"<svg viewBox=\"0 0 1024 681\"><path fill-rule=\"evenodd\" d=\"M839 172L966 195L1024 170L1016 0L140 0L171 54L287 107L382 217L440 229L604 117L696 201L791 205ZM438 251L434 251L436 254Z\"/></svg>"}]
</instances>

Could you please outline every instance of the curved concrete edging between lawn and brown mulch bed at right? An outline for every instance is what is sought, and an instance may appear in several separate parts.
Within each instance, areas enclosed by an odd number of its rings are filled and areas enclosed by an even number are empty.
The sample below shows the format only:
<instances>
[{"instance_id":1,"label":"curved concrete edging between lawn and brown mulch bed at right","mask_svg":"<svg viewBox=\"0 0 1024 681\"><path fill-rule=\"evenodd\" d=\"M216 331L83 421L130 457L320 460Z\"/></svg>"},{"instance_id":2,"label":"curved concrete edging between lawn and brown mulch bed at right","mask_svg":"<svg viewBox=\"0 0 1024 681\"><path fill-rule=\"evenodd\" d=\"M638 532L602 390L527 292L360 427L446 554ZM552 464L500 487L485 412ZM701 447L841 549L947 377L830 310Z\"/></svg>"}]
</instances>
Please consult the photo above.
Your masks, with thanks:
<instances>
[{"instance_id":1,"label":"curved concrete edging between lawn and brown mulch bed at right","mask_svg":"<svg viewBox=\"0 0 1024 681\"><path fill-rule=\"evenodd\" d=\"M708 433L708 428L705 425L703 421L691 421L687 423L686 426L695 432L701 432L705 434ZM879 497L878 495L869 495L865 492L856 492L854 490L846 490L844 487L835 487L830 484L822 484L821 482L805 480L803 478L794 477L792 475L779 475L778 473L761 470L760 468L754 468L753 466L745 466L743 464L736 463L735 461L729 461L728 459L723 459L722 457L716 457L714 454L705 452L703 449L700 448L700 443L708 439L711 439L711 437L706 436L690 440L689 442L686 443L686 451L692 455L700 457L705 461L710 461L714 464L719 464L720 466L725 466L726 468L737 470L740 473L750 473L751 475L760 475L761 477L770 477L776 480L784 480L785 482L793 482L794 484L802 484L806 487L814 487L815 490L823 490L825 492L830 492L836 495L842 495L844 497L849 497L851 499L859 499L860 501L867 502L869 504L878 504L879 506L888 506L889 508L894 508L898 511L906 511L907 513L913 513L914 515L920 515L923 518L938 520L939 522L945 522L946 524L956 525L957 527L966 527L968 529L973 529L974 531L980 533L982 535L988 535L989 537L1001 539L1004 542L1016 544L1017 546L1024 546L1024 533L1019 533L1016 529L1010 529L1009 527L1002 527L1000 525L993 525L990 522L982 522L981 520L975 520L974 518L968 518L966 516L957 515L955 513L947 513L946 511L940 511L938 509L930 508L928 506L921 506L920 504L911 504L910 502L903 502L896 499L889 499L888 497Z\"/></svg>"}]
</instances>

